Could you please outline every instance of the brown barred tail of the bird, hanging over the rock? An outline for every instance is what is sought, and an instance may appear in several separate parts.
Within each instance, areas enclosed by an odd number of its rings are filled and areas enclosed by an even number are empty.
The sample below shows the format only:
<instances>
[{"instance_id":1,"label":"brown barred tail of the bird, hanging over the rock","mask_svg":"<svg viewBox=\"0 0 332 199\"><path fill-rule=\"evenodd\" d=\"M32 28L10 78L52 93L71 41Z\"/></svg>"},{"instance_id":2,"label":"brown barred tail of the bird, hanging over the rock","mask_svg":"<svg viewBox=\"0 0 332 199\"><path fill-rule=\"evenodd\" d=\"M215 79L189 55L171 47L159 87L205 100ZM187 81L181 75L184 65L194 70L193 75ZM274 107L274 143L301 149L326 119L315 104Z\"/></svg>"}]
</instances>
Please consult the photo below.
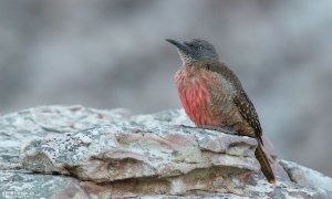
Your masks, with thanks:
<instances>
[{"instance_id":1,"label":"brown barred tail of the bird, hanging over the rock","mask_svg":"<svg viewBox=\"0 0 332 199\"><path fill-rule=\"evenodd\" d=\"M268 181L270 184L276 184L276 177L273 174L273 170L271 168L270 161L266 155L266 153L262 149L262 145L259 143L256 150L255 150L255 156L258 159L260 167L261 167L261 171L263 172L263 175L266 176L266 178L268 179Z\"/></svg>"}]
</instances>

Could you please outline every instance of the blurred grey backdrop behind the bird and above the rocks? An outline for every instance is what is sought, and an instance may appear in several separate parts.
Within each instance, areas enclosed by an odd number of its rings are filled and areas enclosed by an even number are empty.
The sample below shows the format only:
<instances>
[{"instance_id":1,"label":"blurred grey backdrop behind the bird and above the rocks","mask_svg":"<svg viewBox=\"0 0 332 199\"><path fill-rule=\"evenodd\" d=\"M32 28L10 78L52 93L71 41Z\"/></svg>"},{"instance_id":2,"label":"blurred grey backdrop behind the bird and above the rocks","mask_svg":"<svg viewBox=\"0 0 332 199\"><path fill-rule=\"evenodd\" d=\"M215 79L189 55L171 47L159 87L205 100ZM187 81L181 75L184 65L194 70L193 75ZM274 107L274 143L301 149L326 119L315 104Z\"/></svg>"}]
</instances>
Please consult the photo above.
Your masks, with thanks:
<instances>
[{"instance_id":1,"label":"blurred grey backdrop behind the bird and above the rocks","mask_svg":"<svg viewBox=\"0 0 332 199\"><path fill-rule=\"evenodd\" d=\"M0 113L178 108L176 50L212 42L282 158L332 176L332 1L1 0Z\"/></svg>"}]
</instances>

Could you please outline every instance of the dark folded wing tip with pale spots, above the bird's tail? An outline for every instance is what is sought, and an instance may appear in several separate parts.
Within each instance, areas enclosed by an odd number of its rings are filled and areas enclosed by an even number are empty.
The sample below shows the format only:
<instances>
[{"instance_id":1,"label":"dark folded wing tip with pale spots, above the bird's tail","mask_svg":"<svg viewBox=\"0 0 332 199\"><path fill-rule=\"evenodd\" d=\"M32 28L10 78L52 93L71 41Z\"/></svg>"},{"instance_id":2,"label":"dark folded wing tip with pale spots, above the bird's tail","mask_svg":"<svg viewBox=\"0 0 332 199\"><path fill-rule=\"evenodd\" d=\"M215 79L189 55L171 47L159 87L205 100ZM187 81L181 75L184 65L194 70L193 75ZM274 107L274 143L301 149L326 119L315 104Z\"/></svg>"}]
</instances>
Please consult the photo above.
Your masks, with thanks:
<instances>
[{"instance_id":1,"label":"dark folded wing tip with pale spots, above the bird's tail","mask_svg":"<svg viewBox=\"0 0 332 199\"><path fill-rule=\"evenodd\" d=\"M262 130L259 123L258 114L255 109L255 106L245 91L240 91L234 98L235 104L237 105L241 116L247 123L253 128L255 136L257 139L263 144L262 142Z\"/></svg>"}]
</instances>

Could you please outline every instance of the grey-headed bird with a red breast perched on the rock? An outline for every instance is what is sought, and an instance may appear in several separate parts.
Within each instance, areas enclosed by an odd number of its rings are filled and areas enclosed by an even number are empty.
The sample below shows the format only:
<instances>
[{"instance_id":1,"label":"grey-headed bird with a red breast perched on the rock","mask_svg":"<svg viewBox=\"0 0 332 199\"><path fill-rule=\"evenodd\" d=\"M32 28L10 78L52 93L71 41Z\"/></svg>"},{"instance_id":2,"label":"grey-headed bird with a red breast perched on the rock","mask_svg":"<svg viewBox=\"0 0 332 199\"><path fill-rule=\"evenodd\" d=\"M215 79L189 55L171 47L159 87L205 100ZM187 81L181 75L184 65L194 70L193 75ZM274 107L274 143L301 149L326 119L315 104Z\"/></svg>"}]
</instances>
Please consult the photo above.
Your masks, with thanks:
<instances>
[{"instance_id":1,"label":"grey-headed bird with a red breast perched on the rock","mask_svg":"<svg viewBox=\"0 0 332 199\"><path fill-rule=\"evenodd\" d=\"M166 41L176 46L183 62L174 78L188 117L196 127L255 138L255 156L261 171L270 184L276 184L263 150L258 114L237 75L219 61L215 46L205 40Z\"/></svg>"}]
</instances>

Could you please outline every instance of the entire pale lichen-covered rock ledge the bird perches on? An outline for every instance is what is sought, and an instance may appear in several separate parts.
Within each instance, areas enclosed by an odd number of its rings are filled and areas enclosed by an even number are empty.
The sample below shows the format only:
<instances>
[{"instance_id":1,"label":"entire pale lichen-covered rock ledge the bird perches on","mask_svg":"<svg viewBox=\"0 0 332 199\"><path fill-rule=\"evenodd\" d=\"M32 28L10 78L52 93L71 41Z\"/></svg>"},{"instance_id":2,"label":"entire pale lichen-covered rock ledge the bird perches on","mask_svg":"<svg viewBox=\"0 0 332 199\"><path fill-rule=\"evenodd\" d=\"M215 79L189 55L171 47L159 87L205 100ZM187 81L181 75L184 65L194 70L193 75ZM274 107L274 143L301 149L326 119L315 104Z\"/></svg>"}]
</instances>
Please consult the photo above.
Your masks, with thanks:
<instances>
[{"instance_id":1,"label":"entire pale lichen-covered rock ledge the bird perches on","mask_svg":"<svg viewBox=\"0 0 332 199\"><path fill-rule=\"evenodd\" d=\"M190 127L191 126L191 127ZM249 137L194 128L183 109L80 105L0 117L0 198L331 198L332 179L278 159L270 185Z\"/></svg>"}]
</instances>

